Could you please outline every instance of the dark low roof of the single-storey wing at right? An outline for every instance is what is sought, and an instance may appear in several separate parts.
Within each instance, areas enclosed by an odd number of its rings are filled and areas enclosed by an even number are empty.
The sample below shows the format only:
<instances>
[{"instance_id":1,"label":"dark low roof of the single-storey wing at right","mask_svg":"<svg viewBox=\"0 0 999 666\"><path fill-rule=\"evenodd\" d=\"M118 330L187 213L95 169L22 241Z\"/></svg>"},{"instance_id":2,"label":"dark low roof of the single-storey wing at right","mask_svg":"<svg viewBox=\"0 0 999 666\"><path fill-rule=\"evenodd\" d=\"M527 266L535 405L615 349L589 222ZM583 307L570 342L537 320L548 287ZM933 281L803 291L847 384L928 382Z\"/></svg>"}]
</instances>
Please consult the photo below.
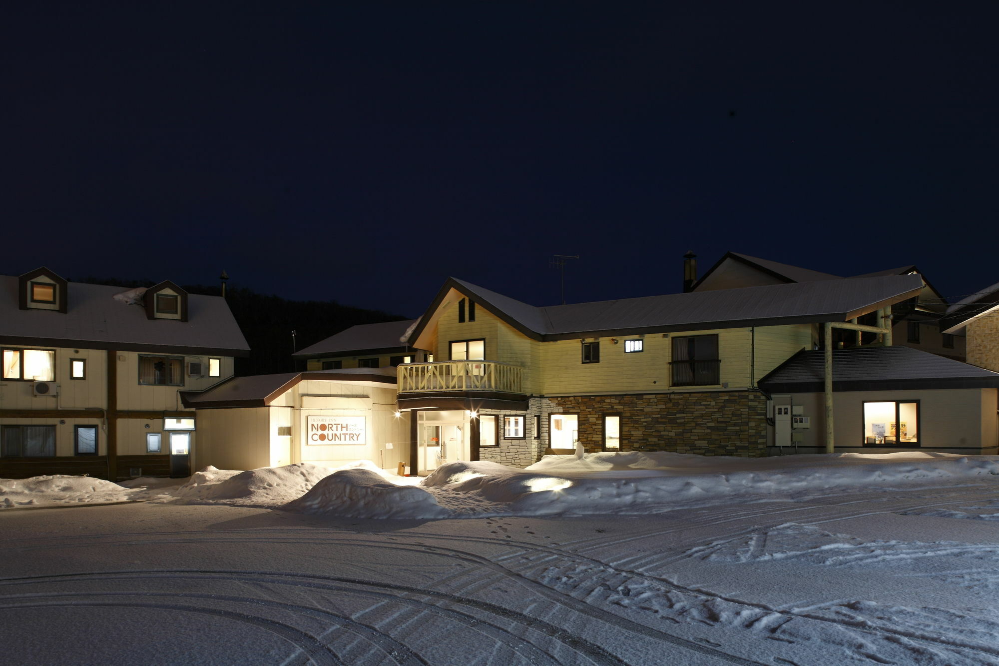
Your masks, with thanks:
<instances>
[{"instance_id":1,"label":"dark low roof of the single-storey wing at right","mask_svg":"<svg viewBox=\"0 0 999 666\"><path fill-rule=\"evenodd\" d=\"M769 393L823 390L824 352L801 351L761 380ZM999 373L911 347L860 347L832 352L833 391L999 387Z\"/></svg>"}]
</instances>

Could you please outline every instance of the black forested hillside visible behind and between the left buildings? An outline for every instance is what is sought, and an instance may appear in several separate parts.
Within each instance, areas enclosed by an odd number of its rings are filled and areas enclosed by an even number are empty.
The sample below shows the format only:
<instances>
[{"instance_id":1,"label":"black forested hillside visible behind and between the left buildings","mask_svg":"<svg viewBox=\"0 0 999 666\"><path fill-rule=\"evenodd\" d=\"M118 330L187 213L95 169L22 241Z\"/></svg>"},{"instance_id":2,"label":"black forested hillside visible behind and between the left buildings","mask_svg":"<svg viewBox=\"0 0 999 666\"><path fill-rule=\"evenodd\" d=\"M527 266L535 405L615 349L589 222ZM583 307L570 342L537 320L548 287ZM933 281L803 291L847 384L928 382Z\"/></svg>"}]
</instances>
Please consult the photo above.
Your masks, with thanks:
<instances>
[{"instance_id":1,"label":"black forested hillside visible behind and between the left buildings","mask_svg":"<svg viewBox=\"0 0 999 666\"><path fill-rule=\"evenodd\" d=\"M73 281L108 284L123 289L151 287L155 284L151 280L94 277ZM191 294L221 294L219 286L181 286ZM226 289L226 301L250 344L250 357L236 359L236 374L240 376L304 370L305 363L293 364L294 350L304 349L356 324L406 319L379 310L341 305L336 301L290 301L281 296L258 294L250 289L233 286Z\"/></svg>"}]
</instances>

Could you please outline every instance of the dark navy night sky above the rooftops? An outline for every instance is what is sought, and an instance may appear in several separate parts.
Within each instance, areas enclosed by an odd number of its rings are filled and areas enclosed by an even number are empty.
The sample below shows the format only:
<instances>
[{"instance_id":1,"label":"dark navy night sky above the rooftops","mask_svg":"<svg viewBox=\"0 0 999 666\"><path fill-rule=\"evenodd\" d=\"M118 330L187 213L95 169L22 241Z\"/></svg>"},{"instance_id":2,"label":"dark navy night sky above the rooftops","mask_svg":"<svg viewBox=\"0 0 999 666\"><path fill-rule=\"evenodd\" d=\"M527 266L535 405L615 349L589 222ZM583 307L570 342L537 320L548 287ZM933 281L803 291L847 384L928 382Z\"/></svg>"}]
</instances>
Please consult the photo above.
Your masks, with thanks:
<instances>
[{"instance_id":1,"label":"dark navy night sky above the rooftops","mask_svg":"<svg viewBox=\"0 0 999 666\"><path fill-rule=\"evenodd\" d=\"M0 273L417 316L679 291L726 250L999 281L987 2L22 3ZM732 112L734 111L734 115Z\"/></svg>"}]
</instances>

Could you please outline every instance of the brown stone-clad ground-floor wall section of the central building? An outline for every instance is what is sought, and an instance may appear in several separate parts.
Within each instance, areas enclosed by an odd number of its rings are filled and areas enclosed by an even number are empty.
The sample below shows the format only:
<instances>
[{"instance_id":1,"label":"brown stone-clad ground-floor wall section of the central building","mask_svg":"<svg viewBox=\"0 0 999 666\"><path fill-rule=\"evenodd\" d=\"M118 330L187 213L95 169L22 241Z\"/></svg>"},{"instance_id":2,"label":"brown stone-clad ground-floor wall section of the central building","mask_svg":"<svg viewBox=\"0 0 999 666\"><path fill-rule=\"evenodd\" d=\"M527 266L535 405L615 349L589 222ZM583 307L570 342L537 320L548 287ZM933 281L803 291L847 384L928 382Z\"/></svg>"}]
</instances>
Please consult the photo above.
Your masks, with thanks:
<instances>
[{"instance_id":1,"label":"brown stone-clad ground-floor wall section of the central building","mask_svg":"<svg viewBox=\"0 0 999 666\"><path fill-rule=\"evenodd\" d=\"M766 398L750 391L569 396L542 399L547 415L579 415L587 453L603 450L604 413L621 415L621 450L766 455Z\"/></svg>"}]
</instances>

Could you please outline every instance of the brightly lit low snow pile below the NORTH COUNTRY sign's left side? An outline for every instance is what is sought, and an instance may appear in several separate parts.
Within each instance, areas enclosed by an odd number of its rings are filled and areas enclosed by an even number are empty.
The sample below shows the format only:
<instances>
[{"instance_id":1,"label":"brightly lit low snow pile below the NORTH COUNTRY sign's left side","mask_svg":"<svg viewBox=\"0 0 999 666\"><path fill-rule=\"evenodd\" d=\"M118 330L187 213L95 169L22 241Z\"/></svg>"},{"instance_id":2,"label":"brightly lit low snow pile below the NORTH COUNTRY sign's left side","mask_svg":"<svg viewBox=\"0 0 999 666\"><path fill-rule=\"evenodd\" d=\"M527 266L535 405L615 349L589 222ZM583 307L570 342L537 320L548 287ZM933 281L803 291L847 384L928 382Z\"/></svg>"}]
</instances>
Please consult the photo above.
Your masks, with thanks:
<instances>
[{"instance_id":1,"label":"brightly lit low snow pile below the NORTH COUNTRY sign's left side","mask_svg":"<svg viewBox=\"0 0 999 666\"><path fill-rule=\"evenodd\" d=\"M379 471L367 460L352 463L348 468L371 470L376 475ZM245 472L209 466L171 494L184 504L273 507L302 497L337 469L311 463L260 467Z\"/></svg>"}]
</instances>

